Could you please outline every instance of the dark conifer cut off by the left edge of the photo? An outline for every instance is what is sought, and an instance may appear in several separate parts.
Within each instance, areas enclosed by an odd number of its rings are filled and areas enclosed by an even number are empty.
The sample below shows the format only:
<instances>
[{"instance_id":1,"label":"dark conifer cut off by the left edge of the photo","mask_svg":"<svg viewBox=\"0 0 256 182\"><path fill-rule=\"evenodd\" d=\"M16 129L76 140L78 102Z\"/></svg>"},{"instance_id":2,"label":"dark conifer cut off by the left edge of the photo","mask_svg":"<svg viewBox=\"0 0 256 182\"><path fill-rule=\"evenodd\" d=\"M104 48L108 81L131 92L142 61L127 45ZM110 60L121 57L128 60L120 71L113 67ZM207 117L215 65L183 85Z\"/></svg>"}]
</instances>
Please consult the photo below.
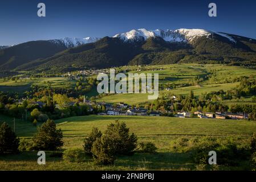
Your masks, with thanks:
<instances>
[{"instance_id":1,"label":"dark conifer cut off by the left edge of the photo","mask_svg":"<svg viewBox=\"0 0 256 182\"><path fill-rule=\"evenodd\" d=\"M19 152L19 139L6 123L0 126L0 154L15 154Z\"/></svg>"}]
</instances>

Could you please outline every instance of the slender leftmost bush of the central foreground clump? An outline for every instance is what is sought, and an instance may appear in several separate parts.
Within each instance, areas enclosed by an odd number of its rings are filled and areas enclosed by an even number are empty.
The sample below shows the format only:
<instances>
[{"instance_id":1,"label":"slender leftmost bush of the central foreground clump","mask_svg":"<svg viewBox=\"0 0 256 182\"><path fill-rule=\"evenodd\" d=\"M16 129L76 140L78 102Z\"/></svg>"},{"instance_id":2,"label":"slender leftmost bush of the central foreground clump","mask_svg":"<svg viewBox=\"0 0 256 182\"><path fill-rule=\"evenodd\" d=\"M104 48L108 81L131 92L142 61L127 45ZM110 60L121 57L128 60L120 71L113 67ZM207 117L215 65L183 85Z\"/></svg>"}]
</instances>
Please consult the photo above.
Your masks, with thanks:
<instances>
[{"instance_id":1,"label":"slender leftmost bush of the central foreground clump","mask_svg":"<svg viewBox=\"0 0 256 182\"><path fill-rule=\"evenodd\" d=\"M92 129L92 132L84 139L84 151L87 155L92 155L92 144L96 141L97 138L100 138L102 135L101 131L97 129L97 127L94 127Z\"/></svg>"}]
</instances>

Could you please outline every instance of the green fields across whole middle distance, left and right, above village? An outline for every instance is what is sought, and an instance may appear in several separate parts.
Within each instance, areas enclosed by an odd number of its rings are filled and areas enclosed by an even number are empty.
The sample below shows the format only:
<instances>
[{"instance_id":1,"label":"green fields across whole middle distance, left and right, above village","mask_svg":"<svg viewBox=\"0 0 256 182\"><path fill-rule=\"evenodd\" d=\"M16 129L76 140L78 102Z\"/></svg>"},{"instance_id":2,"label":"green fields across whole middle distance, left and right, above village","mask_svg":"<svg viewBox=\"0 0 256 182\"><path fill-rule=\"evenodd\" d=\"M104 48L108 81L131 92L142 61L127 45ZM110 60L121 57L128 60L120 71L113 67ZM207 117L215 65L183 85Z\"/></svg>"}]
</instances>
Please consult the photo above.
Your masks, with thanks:
<instances>
[{"instance_id":1,"label":"green fields across whole middle distance, left and right, above village","mask_svg":"<svg viewBox=\"0 0 256 182\"><path fill-rule=\"evenodd\" d=\"M123 69L129 69L128 73L159 73L160 84L188 84L189 82L193 82L196 77L204 78L204 81L200 82L200 86L184 86L170 91L160 90L160 96L166 93L187 95L190 90L194 91L195 96L199 96L201 93L205 92L218 91L221 89L229 90L237 87L239 82L233 82L232 80L234 78L241 76L256 77L255 69L219 64L173 64L149 65L143 67L125 66L117 68L119 71ZM212 77L208 78L208 75L212 75ZM231 81L231 83L224 83L225 81ZM70 88L75 86L75 81L68 80L65 77L24 78L17 81L5 82L3 79L0 79L0 91L23 93L29 90L32 84L38 86L47 86L50 84L55 88ZM88 97L96 95L96 87L86 94ZM126 102L130 105L136 105L149 101L147 96L148 94L132 94L132 96L131 94L117 94L99 98L97 101L105 101L109 103ZM230 103L231 102L229 102L229 104ZM243 102L235 103L243 104Z\"/></svg>"}]
</instances>

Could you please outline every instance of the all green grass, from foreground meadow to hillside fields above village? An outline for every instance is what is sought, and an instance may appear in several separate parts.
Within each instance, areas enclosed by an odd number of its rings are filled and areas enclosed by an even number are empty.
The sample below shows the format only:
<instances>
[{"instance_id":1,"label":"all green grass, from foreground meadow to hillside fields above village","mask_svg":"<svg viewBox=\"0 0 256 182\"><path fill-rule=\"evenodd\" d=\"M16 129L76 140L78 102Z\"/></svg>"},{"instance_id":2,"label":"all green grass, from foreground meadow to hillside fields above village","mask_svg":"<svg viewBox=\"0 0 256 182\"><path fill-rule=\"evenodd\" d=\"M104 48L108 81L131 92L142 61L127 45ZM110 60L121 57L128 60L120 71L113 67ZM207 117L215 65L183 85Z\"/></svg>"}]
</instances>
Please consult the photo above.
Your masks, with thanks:
<instances>
[{"instance_id":1,"label":"all green grass, from foreground meadow to hillside fields above village","mask_svg":"<svg viewBox=\"0 0 256 182\"><path fill-rule=\"evenodd\" d=\"M230 67L226 65L200 65L200 64L174 64L174 65L153 65L145 67L121 67L128 68L129 73L159 73L160 84L188 84L194 81L197 76L204 78L201 86L185 86L170 91L161 90L160 96L164 94L187 95L190 90L195 96L201 93L218 90L229 90L235 88L239 82L232 80L240 76L256 77L254 69L241 67ZM208 79L208 75L212 78ZM232 82L225 84L224 81ZM18 80L3 82L0 80L0 90L25 92L30 89L31 84L47 86L50 83L55 88L70 88L75 81L67 80L64 77L34 78L32 80ZM95 96L94 87L87 96ZM97 101L109 103L125 102L136 105L148 102L148 94L116 94L105 96ZM251 98L240 100L223 101L224 104L254 104ZM168 118L168 117L140 117L140 116L99 116L89 115L83 117L64 118L55 121L57 127L63 131L64 149L79 147L82 148L83 139L90 133L92 127L99 127L104 131L107 125L115 119L124 121L139 137L139 142L149 141L156 144L158 154L135 154L134 156L119 156L114 166L95 166L92 159L86 163L66 163L61 158L50 157L51 152L46 152L46 166L39 166L36 163L38 156L36 152L24 152L19 155L0 156L0 170L193 170L196 165L191 162L188 153L176 152L172 149L173 140L180 137L213 136L220 139L228 137L241 137L248 139L256 132L256 122L198 119L198 118ZM0 115L0 121L6 121L11 127L14 126L13 118ZM31 139L36 132L36 127L31 122L16 119L15 132L18 137ZM249 164L245 164L249 165ZM246 166L246 167L247 167ZM224 167L227 170L241 170L243 167Z\"/></svg>"}]
</instances>

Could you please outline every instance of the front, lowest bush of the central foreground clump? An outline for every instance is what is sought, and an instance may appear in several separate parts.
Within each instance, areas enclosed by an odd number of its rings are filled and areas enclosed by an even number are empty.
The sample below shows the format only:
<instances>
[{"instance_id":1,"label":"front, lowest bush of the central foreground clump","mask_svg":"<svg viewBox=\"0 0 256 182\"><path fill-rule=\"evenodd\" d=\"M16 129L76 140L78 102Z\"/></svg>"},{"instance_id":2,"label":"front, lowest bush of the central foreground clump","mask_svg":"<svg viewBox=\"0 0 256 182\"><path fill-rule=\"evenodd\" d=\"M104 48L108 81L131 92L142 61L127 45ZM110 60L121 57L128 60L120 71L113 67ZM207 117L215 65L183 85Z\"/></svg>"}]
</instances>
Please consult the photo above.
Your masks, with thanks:
<instances>
[{"instance_id":1,"label":"front, lowest bush of the central foreground clump","mask_svg":"<svg viewBox=\"0 0 256 182\"><path fill-rule=\"evenodd\" d=\"M115 151L111 146L109 137L103 135L101 138L97 138L94 144L92 144L92 154L94 155L94 163L97 165L109 165L115 161Z\"/></svg>"}]
</instances>

